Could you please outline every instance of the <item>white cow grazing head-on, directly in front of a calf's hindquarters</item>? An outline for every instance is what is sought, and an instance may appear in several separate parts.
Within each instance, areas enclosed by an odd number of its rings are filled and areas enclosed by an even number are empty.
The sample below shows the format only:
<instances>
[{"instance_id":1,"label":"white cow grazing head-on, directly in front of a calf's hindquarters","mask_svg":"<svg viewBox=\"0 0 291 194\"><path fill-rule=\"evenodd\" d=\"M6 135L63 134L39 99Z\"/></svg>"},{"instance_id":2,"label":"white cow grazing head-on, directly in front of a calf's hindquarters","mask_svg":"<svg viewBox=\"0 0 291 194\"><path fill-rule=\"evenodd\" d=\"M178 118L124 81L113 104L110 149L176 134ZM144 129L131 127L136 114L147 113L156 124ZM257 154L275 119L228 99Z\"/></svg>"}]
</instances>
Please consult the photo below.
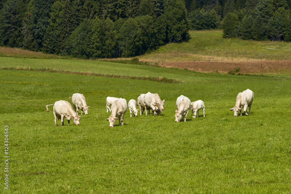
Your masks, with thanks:
<instances>
[{"instance_id":1,"label":"white cow grazing head-on, directly in front of a calf's hindquarters","mask_svg":"<svg viewBox=\"0 0 291 194\"><path fill-rule=\"evenodd\" d=\"M118 119L119 125L123 125L123 117L127 111L127 103L124 98L118 98L116 101L113 102L111 106L111 115L109 116L109 127L115 126L115 122ZM121 122L120 122L121 121Z\"/></svg>"}]
</instances>

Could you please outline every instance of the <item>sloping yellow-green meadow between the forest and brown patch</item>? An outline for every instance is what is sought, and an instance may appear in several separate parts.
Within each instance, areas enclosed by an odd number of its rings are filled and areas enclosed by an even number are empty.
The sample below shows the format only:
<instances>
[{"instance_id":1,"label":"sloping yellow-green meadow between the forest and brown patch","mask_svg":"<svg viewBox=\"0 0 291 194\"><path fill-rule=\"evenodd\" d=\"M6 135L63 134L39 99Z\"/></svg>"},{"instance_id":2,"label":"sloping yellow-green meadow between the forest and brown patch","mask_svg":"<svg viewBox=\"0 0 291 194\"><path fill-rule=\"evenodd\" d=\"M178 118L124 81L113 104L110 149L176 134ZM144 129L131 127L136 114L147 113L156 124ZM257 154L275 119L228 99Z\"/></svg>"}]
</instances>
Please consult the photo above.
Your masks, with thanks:
<instances>
[{"instance_id":1,"label":"sloping yellow-green meadow between the forest and brown patch","mask_svg":"<svg viewBox=\"0 0 291 194\"><path fill-rule=\"evenodd\" d=\"M157 63L188 61L285 60L291 58L291 43L222 38L221 30L190 31L190 39L166 44L139 57Z\"/></svg>"}]
</instances>

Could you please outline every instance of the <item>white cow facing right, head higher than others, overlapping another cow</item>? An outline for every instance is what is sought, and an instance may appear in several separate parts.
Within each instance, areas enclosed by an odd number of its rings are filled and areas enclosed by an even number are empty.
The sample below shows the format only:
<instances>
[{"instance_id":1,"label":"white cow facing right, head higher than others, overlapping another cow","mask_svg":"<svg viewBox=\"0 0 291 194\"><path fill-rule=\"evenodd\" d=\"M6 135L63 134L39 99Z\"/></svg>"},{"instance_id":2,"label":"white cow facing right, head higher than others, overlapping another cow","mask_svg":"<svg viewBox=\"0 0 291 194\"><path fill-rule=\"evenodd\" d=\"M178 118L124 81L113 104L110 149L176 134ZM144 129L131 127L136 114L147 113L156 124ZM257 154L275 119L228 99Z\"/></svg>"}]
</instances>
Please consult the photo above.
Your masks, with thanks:
<instances>
[{"instance_id":1,"label":"white cow facing right, head higher than others, overlapping another cow","mask_svg":"<svg viewBox=\"0 0 291 194\"><path fill-rule=\"evenodd\" d=\"M152 94L150 92L145 94L145 115L150 114L150 110L152 109L154 116L157 115L157 110L161 112L164 110L164 102L165 99L162 101L158 94ZM162 114L162 113L161 113Z\"/></svg>"}]
</instances>

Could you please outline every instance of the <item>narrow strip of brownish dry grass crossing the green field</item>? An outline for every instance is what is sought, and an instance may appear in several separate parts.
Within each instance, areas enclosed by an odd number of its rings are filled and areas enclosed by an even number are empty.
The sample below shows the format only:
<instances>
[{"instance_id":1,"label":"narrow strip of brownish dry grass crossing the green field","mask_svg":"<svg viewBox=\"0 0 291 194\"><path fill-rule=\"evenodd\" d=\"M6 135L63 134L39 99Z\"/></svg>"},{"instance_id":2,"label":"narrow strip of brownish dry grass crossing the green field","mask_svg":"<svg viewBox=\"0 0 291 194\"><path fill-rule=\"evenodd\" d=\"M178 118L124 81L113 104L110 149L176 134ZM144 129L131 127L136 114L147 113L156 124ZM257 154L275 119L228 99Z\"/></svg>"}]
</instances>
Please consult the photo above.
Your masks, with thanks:
<instances>
[{"instance_id":1,"label":"narrow strip of brownish dry grass crossing the green field","mask_svg":"<svg viewBox=\"0 0 291 194\"><path fill-rule=\"evenodd\" d=\"M13 68L13 67L3 67L2 70L26 70L26 71L36 71L36 72L52 72L52 73L65 73L65 74L77 74L77 75L90 75L90 76L100 76L100 77L111 77L111 78L122 78L122 79L136 79L136 80L148 80L157 81L163 83L181 83L179 80L169 79L166 77L153 77L153 76L123 76L123 75L113 75L113 74L101 74L93 72L72 72L64 70L53 70L53 69L25 69L25 68Z\"/></svg>"}]
</instances>

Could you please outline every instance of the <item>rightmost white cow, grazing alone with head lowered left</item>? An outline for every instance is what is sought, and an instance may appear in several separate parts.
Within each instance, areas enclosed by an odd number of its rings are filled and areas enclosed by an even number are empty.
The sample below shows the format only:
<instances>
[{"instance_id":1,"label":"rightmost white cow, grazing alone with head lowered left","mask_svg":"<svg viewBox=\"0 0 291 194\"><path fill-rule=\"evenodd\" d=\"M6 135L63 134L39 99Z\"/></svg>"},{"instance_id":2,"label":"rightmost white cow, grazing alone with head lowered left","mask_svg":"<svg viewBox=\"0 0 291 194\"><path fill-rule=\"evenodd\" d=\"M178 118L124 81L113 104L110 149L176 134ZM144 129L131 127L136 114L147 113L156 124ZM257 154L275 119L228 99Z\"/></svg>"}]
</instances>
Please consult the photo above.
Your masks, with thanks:
<instances>
[{"instance_id":1,"label":"rightmost white cow, grazing alone with head lowered left","mask_svg":"<svg viewBox=\"0 0 291 194\"><path fill-rule=\"evenodd\" d=\"M242 108L244 108L244 113L249 115L246 111L246 108L249 106L249 113L251 112L251 107L253 104L254 92L250 89L246 89L243 92L239 92L237 95L237 102L235 103L235 107L230 108L230 111L234 112L235 117L237 117L238 111L240 112L240 116L242 116Z\"/></svg>"}]
</instances>

